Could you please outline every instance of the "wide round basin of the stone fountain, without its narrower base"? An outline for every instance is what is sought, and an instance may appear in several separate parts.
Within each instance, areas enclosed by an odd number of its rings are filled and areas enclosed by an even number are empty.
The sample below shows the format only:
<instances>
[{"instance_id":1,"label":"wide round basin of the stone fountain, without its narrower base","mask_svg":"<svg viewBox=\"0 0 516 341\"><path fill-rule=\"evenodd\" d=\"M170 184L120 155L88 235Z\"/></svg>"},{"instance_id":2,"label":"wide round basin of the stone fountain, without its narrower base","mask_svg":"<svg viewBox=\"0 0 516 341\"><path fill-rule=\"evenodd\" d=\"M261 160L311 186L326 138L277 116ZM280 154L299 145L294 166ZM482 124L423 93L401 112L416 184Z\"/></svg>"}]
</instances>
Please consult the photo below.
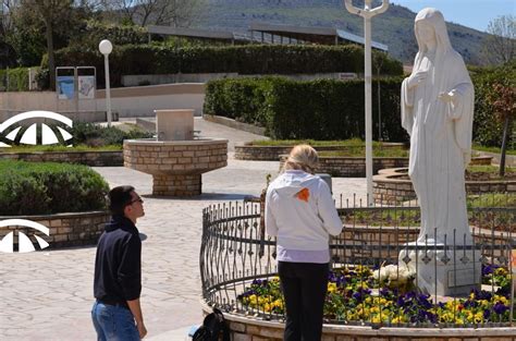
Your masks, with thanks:
<instances>
[{"instance_id":1,"label":"wide round basin of the stone fountain, without its narrower base","mask_svg":"<svg viewBox=\"0 0 516 341\"><path fill-rule=\"evenodd\" d=\"M206 173L228 166L228 139L126 139L124 166L152 175Z\"/></svg>"}]
</instances>

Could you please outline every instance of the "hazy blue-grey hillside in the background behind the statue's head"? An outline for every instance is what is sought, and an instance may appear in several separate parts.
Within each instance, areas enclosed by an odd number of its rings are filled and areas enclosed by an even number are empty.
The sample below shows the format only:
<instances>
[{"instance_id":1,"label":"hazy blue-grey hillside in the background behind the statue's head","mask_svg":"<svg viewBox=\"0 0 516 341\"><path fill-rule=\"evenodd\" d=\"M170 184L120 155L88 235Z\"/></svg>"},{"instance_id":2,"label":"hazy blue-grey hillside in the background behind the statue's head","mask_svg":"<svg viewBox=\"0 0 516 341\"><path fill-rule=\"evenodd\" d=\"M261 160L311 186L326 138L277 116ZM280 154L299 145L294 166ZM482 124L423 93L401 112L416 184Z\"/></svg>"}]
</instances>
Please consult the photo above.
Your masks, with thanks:
<instances>
[{"instance_id":1,"label":"hazy blue-grey hillside in the background behind the statue's head","mask_svg":"<svg viewBox=\"0 0 516 341\"><path fill-rule=\"evenodd\" d=\"M363 36L363 20L346 11L342 0L206 0L199 28L246 32L253 21L297 26L343 28ZM358 2L357 2L358 4ZM391 3L372 21L372 39L389 46L391 56L410 64L417 51L414 36L416 13ZM467 63L478 64L486 33L447 23L453 47Z\"/></svg>"}]
</instances>

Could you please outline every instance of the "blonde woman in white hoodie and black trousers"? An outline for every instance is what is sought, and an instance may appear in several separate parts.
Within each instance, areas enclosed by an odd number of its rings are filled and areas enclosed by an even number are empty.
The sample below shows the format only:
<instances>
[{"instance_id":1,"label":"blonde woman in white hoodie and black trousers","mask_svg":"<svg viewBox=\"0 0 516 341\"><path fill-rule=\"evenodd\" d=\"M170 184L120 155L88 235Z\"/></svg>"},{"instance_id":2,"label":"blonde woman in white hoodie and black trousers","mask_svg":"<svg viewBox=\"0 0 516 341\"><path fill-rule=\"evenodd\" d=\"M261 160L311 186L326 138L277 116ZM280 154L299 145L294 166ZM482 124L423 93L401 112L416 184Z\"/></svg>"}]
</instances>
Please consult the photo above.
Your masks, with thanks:
<instances>
[{"instance_id":1,"label":"blonde woman in white hoodie and black trousers","mask_svg":"<svg viewBox=\"0 0 516 341\"><path fill-rule=\"evenodd\" d=\"M286 341L321 339L329 239L342 231L329 186L314 175L318 161L312 147L295 146L283 173L267 190L266 231L277 238Z\"/></svg>"}]
</instances>

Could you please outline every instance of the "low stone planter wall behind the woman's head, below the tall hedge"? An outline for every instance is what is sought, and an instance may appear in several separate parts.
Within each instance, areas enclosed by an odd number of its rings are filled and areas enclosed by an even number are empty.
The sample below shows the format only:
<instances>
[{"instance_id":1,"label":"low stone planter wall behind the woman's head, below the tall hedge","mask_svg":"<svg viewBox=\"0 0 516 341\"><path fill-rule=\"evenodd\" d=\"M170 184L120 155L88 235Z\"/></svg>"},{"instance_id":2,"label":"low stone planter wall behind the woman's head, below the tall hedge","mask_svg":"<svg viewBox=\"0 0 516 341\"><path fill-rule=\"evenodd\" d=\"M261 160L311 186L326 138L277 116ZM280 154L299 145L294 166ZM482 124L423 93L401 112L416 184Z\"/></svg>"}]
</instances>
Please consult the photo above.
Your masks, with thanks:
<instances>
[{"instance_id":1,"label":"low stone planter wall behind the woman's head, below the tall hedge","mask_svg":"<svg viewBox=\"0 0 516 341\"><path fill-rule=\"evenodd\" d=\"M405 146L403 143L383 143L382 148L400 148ZM235 146L235 159L237 160L260 160L277 161L283 154L291 153L294 146L255 146L245 144ZM317 151L347 150L345 146L319 146L315 147Z\"/></svg>"}]
</instances>

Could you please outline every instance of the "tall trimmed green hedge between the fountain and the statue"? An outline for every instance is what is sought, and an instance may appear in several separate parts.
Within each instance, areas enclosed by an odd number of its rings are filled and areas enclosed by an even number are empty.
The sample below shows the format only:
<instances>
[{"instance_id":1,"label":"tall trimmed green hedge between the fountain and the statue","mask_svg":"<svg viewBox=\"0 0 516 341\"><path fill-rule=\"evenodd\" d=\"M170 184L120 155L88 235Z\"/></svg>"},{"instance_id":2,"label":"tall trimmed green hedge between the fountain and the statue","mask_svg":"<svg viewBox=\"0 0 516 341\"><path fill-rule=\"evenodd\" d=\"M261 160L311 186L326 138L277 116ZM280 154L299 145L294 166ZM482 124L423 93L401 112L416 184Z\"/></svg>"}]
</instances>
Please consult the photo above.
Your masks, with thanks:
<instances>
[{"instance_id":1,"label":"tall trimmed green hedge between the fountain and the statue","mask_svg":"<svg viewBox=\"0 0 516 341\"><path fill-rule=\"evenodd\" d=\"M382 138L406 142L401 126L401 78L380 80ZM372 132L378 138L377 83ZM265 126L282 139L364 138L364 82L290 81L281 77L219 80L207 84L204 112Z\"/></svg>"}]
</instances>

